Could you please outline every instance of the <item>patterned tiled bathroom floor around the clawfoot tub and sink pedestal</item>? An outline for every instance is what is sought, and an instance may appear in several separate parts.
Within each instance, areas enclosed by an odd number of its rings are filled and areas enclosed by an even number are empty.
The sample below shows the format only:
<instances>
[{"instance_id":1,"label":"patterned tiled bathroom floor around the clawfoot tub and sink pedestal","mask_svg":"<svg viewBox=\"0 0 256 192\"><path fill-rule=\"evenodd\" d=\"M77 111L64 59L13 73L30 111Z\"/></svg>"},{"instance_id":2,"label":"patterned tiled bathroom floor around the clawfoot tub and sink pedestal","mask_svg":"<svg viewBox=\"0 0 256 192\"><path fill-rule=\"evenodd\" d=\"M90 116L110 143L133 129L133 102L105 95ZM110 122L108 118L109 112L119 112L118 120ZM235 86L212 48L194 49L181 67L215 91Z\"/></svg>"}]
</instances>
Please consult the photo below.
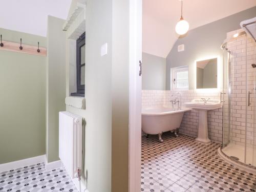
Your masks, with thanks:
<instances>
[{"instance_id":1,"label":"patterned tiled bathroom floor around the clawfoot tub and sink pedestal","mask_svg":"<svg viewBox=\"0 0 256 192\"><path fill-rule=\"evenodd\" d=\"M219 144L163 134L142 137L141 191L255 191L256 175L238 169L218 155Z\"/></svg>"}]
</instances>

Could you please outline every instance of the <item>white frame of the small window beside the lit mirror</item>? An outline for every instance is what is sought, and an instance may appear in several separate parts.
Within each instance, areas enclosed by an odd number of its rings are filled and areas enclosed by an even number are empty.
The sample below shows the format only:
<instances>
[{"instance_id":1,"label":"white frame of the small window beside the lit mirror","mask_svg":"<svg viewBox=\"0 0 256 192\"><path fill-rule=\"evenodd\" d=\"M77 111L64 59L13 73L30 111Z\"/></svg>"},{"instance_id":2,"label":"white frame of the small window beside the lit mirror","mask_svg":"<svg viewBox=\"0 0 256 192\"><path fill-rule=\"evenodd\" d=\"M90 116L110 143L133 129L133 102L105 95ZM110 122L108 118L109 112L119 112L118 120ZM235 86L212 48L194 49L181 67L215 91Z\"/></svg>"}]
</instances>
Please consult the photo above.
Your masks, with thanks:
<instances>
[{"instance_id":1,"label":"white frame of the small window beside the lit mirror","mask_svg":"<svg viewBox=\"0 0 256 192\"><path fill-rule=\"evenodd\" d=\"M187 76L187 82L188 86L184 88L177 88L177 72L182 72L182 71L187 71L188 76ZM170 90L188 90L189 89L189 70L188 66L182 66L182 67L176 67L176 68L171 68L170 69Z\"/></svg>"}]
</instances>

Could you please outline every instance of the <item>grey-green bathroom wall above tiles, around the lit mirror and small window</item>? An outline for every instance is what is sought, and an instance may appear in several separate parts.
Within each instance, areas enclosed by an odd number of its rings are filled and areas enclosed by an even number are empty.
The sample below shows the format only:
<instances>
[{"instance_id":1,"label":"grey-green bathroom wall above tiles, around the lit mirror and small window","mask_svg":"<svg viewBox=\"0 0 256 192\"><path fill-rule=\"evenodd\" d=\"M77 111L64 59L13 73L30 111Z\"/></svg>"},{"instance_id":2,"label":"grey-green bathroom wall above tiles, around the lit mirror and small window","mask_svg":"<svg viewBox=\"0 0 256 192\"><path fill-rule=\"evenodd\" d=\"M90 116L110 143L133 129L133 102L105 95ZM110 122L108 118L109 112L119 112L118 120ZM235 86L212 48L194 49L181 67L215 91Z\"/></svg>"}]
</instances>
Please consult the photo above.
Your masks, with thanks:
<instances>
[{"instance_id":1,"label":"grey-green bathroom wall above tiles, around the lit mirror and small window","mask_svg":"<svg viewBox=\"0 0 256 192\"><path fill-rule=\"evenodd\" d=\"M174 44L166 57L166 89L170 89L170 68L189 66L189 89L195 89L194 63L197 59L220 56L220 48L227 32L241 29L240 22L256 16L256 7L230 15L216 22L189 30ZM184 44L185 51L178 52L178 45Z\"/></svg>"}]
</instances>

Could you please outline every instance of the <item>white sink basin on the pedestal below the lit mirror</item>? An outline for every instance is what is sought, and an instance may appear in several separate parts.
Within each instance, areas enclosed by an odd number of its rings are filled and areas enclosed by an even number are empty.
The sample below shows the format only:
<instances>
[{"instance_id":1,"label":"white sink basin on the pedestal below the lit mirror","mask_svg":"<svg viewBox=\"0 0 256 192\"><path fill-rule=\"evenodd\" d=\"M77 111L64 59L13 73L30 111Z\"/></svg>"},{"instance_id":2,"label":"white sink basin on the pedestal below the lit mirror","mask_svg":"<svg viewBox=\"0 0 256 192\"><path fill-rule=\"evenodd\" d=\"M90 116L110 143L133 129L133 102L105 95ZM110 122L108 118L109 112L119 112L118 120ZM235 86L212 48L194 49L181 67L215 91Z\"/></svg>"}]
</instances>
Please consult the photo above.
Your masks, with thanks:
<instances>
[{"instance_id":1,"label":"white sink basin on the pedestal below the lit mirror","mask_svg":"<svg viewBox=\"0 0 256 192\"><path fill-rule=\"evenodd\" d=\"M208 100L204 103L202 100L195 99L191 102L184 103L189 108L197 109L197 110L216 110L221 108L221 102L219 100Z\"/></svg>"}]
</instances>

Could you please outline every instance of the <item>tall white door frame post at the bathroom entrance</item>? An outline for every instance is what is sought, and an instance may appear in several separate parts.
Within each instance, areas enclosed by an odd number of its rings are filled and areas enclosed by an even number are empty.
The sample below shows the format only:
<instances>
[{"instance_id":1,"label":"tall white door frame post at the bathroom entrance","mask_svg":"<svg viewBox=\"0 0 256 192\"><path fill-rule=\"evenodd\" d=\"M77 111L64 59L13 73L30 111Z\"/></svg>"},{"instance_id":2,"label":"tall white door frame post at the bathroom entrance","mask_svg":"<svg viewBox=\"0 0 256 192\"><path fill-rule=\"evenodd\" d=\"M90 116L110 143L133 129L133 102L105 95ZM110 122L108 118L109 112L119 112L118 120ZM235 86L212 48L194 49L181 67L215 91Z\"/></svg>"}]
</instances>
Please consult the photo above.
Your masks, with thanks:
<instances>
[{"instance_id":1,"label":"tall white door frame post at the bathroom entrance","mask_svg":"<svg viewBox=\"0 0 256 192\"><path fill-rule=\"evenodd\" d=\"M140 192L142 83L139 61L142 59L142 0L130 1L129 47L129 192Z\"/></svg>"}]
</instances>

